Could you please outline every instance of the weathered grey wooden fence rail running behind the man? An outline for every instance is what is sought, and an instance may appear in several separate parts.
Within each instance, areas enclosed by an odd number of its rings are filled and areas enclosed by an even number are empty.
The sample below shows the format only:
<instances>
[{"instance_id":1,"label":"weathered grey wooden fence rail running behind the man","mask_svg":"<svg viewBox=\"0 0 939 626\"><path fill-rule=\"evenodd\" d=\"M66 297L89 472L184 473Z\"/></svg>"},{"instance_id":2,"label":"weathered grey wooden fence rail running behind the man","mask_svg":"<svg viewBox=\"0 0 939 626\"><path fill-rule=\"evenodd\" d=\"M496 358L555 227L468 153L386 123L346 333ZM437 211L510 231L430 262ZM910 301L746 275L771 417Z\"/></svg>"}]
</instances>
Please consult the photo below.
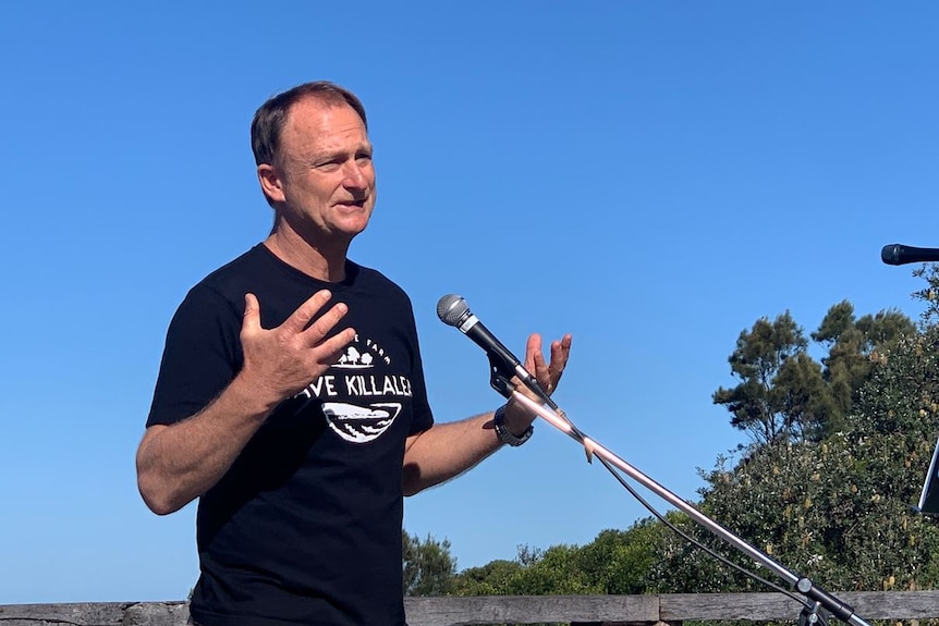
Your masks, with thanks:
<instances>
[{"instance_id":1,"label":"weathered grey wooden fence rail running behind the man","mask_svg":"<svg viewBox=\"0 0 939 626\"><path fill-rule=\"evenodd\" d=\"M939 591L837 593L864 619L939 618ZM612 626L688 619L796 622L802 605L782 593L660 596L473 596L406 598L410 626L570 623ZM2 626L185 626L185 602L0 604ZM832 624L837 623L832 619Z\"/></svg>"}]
</instances>

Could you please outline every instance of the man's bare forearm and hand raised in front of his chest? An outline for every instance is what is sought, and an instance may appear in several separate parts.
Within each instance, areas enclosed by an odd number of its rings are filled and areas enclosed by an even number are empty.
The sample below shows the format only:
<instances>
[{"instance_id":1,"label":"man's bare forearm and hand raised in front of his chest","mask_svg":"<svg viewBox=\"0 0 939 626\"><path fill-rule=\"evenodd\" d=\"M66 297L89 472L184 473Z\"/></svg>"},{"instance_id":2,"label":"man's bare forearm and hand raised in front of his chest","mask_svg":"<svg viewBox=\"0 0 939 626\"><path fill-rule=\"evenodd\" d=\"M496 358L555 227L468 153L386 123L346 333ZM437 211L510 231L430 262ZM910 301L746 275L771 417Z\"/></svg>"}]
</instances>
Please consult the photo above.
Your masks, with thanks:
<instances>
[{"instance_id":1,"label":"man's bare forearm and hand raised in front of his chest","mask_svg":"<svg viewBox=\"0 0 939 626\"><path fill-rule=\"evenodd\" d=\"M336 363L355 330L330 336L346 312L341 303L310 323L330 298L317 292L281 326L266 330L257 298L245 296L241 371L196 415L147 428L137 449L137 487L154 513L173 513L208 491L277 405Z\"/></svg>"}]
</instances>

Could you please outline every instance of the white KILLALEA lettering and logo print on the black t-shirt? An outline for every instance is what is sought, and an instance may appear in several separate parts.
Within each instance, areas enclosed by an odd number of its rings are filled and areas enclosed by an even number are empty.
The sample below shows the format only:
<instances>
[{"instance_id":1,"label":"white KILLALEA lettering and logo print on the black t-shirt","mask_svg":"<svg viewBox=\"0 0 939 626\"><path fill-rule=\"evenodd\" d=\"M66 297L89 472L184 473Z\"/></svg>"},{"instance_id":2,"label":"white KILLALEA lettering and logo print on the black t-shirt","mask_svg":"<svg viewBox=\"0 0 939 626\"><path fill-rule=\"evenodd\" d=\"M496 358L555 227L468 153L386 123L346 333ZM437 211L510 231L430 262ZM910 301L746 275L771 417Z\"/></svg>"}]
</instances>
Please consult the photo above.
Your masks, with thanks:
<instances>
[{"instance_id":1,"label":"white KILLALEA lettering and logo print on the black t-shirt","mask_svg":"<svg viewBox=\"0 0 939 626\"><path fill-rule=\"evenodd\" d=\"M406 376L376 371L377 367L389 366L391 357L377 342L370 339L362 342L356 335L329 371L295 397L324 401L326 422L345 441L374 441L401 413L402 403L389 402L389 398L412 396L411 380ZM333 373L334 370L345 371ZM371 402L371 398L381 398L381 402Z\"/></svg>"}]
</instances>

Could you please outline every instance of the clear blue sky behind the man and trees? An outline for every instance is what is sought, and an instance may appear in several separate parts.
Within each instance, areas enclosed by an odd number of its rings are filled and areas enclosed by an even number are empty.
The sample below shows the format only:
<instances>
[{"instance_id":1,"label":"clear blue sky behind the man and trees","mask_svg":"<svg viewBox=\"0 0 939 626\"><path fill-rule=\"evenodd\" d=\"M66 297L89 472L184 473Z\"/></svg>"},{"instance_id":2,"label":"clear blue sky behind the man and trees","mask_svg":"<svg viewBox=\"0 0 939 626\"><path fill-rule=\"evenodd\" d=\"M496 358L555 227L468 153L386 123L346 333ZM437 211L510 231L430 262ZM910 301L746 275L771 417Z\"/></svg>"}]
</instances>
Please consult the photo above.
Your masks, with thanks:
<instances>
[{"instance_id":1,"label":"clear blue sky behind the man and trees","mask_svg":"<svg viewBox=\"0 0 939 626\"><path fill-rule=\"evenodd\" d=\"M414 302L438 419L491 409L464 295L513 351L574 335L559 404L687 499L744 441L711 393L763 316L916 317L939 245L939 4L66 2L0 9L0 603L185 598L195 506L134 452L188 287L267 234L248 124L328 78L369 112L379 201L351 256ZM539 424L408 499L460 568L645 511Z\"/></svg>"}]
</instances>

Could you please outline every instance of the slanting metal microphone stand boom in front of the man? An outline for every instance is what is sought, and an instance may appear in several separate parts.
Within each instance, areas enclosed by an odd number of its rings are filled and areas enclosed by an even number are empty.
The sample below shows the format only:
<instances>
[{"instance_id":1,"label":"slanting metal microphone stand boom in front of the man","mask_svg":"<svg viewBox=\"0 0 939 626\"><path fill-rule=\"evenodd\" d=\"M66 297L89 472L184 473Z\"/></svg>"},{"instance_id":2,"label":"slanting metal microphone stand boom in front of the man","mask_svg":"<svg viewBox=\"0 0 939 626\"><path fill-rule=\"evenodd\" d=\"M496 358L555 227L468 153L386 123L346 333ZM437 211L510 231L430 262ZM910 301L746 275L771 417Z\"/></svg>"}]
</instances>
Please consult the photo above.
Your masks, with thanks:
<instances>
[{"instance_id":1,"label":"slanting metal microphone stand boom in front of the man","mask_svg":"<svg viewBox=\"0 0 939 626\"><path fill-rule=\"evenodd\" d=\"M757 563L761 563L773 574L789 582L793 586L793 588L805 596L808 600L812 601L812 604L806 603L805 610L802 612L800 616L800 625L801 626L812 626L818 624L825 624L827 622L826 616L819 612L820 609L825 609L830 614L834 615L838 619L845 622L847 624L853 624L854 626L870 626L867 622L858 617L854 614L854 609L829 593L825 591L817 585L815 585L809 578L804 576L798 576L795 573L786 569L772 559L769 555L764 554L697 508L693 505L688 504L606 447L603 447L599 442L594 441L589 437L587 437L584 432L582 432L574 424L568 419L568 416L561 410L557 404L548 394L537 385L526 384L526 386L531 388L532 391L538 395L542 400L542 404L539 404L527 395L520 392L515 384L511 382L513 376L515 376L515 371L513 368L508 367L509 364L502 363L495 355L489 354L489 365L490 365L490 384L492 389L498 391L503 397L514 400L525 408L527 408L532 414L542 418L545 421L578 442L584 446L584 450L587 453L587 459L589 461L593 455L597 455L606 463L615 466L618 469L623 471L626 476L654 492L656 495L672 504L675 508L685 513L688 517L694 519L699 526L703 526L705 529L711 531L718 538L722 539L727 543L730 543L733 548L737 549L740 552L749 556ZM546 407L545 404L549 405Z\"/></svg>"}]
</instances>

